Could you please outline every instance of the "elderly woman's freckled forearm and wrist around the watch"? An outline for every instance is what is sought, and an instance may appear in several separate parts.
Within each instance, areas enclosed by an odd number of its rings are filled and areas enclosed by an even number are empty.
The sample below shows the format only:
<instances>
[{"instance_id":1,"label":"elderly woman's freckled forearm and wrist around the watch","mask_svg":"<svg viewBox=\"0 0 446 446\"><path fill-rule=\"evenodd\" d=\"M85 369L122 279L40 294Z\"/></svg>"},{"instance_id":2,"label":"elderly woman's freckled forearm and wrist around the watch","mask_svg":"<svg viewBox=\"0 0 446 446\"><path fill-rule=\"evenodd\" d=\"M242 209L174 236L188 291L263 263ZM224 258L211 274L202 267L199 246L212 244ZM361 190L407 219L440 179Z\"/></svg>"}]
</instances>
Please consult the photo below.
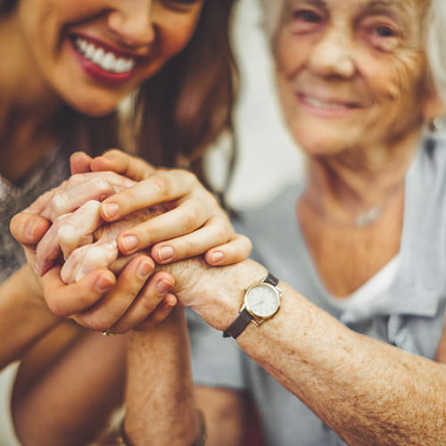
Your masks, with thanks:
<instances>
[{"instance_id":1,"label":"elderly woman's freckled forearm and wrist around the watch","mask_svg":"<svg viewBox=\"0 0 446 446\"><path fill-rule=\"evenodd\" d=\"M221 269L205 283L198 279L192 293L200 293L201 316L223 330L237 315L244 286L265 269L250 260ZM237 338L252 359L350 444L446 444L445 366L358 335L279 286L277 315Z\"/></svg>"}]
</instances>

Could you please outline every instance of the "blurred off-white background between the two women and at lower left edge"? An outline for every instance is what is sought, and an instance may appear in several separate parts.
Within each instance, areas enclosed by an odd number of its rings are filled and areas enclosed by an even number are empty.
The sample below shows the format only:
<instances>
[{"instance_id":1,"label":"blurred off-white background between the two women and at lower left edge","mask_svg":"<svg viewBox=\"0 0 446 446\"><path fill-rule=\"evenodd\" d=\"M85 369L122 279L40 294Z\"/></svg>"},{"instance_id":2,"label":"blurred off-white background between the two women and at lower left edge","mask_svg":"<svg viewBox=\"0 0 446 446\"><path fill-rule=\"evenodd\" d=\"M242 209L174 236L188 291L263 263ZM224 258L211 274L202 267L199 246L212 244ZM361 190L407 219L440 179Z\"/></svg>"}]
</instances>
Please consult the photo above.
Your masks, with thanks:
<instances>
[{"instance_id":1,"label":"blurred off-white background between the two women and at lower left edge","mask_svg":"<svg viewBox=\"0 0 446 446\"><path fill-rule=\"evenodd\" d=\"M239 156L227 194L236 209L252 207L301 176L301 154L280 119L272 78L268 42L261 29L258 0L239 0L234 46L241 75L240 101L235 110ZM225 152L209 159L211 177L224 182ZM0 446L17 446L9 425L9 392L14 367L0 374Z\"/></svg>"}]
</instances>

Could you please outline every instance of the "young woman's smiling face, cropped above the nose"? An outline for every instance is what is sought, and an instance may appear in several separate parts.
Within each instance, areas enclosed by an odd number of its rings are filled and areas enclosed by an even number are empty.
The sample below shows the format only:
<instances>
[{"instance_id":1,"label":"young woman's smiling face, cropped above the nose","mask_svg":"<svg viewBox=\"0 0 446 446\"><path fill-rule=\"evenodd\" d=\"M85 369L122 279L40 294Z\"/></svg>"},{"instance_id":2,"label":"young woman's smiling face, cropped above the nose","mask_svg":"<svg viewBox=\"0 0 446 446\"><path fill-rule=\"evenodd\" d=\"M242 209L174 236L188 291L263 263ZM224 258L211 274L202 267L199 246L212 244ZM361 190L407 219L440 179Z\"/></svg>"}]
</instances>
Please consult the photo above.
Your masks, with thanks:
<instances>
[{"instance_id":1,"label":"young woman's smiling face, cropped above the nose","mask_svg":"<svg viewBox=\"0 0 446 446\"><path fill-rule=\"evenodd\" d=\"M204 0L20 0L21 39L49 87L100 116L178 54Z\"/></svg>"}]
</instances>

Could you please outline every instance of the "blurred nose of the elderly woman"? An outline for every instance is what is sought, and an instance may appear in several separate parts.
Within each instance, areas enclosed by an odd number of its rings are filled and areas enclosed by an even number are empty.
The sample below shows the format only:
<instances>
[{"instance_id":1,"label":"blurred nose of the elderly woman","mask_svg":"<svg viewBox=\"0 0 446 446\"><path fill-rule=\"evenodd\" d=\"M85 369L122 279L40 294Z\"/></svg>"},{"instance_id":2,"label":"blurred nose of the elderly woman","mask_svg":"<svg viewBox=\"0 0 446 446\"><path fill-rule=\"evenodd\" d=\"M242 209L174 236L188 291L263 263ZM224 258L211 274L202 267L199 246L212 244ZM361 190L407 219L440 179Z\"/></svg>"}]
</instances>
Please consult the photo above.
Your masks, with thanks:
<instances>
[{"instance_id":1,"label":"blurred nose of the elderly woman","mask_svg":"<svg viewBox=\"0 0 446 446\"><path fill-rule=\"evenodd\" d=\"M309 69L324 78L351 78L356 72L352 37L343 29L326 29L312 47Z\"/></svg>"}]
</instances>

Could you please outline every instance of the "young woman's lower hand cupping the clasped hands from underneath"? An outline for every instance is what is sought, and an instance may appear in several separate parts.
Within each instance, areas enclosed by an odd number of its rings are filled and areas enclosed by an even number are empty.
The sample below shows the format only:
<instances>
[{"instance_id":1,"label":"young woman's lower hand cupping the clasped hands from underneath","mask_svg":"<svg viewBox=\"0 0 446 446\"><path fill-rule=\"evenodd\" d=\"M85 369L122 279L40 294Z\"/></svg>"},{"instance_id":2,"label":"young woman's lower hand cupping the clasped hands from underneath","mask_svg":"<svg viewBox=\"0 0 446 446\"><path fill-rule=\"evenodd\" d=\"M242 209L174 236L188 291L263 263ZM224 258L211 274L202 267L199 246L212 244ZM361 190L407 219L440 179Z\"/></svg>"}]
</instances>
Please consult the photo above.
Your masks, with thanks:
<instances>
[{"instance_id":1,"label":"young woman's lower hand cupping the clasped hands from underneath","mask_svg":"<svg viewBox=\"0 0 446 446\"><path fill-rule=\"evenodd\" d=\"M24 247L31 268L36 262L36 245L50 225L47 219L26 212L12 219L12 235ZM129 259L119 276L109 268L91 268L67 285L62 281L60 264L36 276L54 314L93 330L124 333L160 323L177 304L169 293L173 277L166 272L153 273L153 268L153 260L139 254Z\"/></svg>"}]
</instances>

